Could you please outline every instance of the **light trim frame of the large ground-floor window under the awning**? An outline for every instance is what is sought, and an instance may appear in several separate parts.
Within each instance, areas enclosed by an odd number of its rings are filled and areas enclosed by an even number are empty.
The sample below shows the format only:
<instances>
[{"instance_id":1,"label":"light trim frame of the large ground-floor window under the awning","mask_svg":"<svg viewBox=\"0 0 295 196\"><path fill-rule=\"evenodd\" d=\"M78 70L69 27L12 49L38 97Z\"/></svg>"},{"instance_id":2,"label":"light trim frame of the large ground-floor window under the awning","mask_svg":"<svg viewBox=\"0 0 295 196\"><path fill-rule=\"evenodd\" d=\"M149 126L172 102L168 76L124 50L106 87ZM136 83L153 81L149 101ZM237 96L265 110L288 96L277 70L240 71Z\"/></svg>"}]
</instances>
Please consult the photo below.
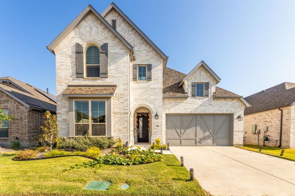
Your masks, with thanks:
<instances>
[{"instance_id":1,"label":"light trim frame of the large ground-floor window under the awning","mask_svg":"<svg viewBox=\"0 0 295 196\"><path fill-rule=\"evenodd\" d=\"M88 110L89 110L89 122L88 123L76 123L75 121L75 101L88 101ZM105 136L106 136L106 133L107 133L107 117L106 117L106 122L102 123L92 123L91 122L91 101L104 101L105 102L105 115L106 115L106 99L73 99L73 111L74 111L74 127L73 127L73 130L74 130L74 137L78 137L79 135L76 135L76 131L75 131L75 124L89 124L89 133L91 134L91 137L104 137L102 135L92 135L92 124L105 124L105 127L106 127L106 130L105 130Z\"/></svg>"}]
</instances>

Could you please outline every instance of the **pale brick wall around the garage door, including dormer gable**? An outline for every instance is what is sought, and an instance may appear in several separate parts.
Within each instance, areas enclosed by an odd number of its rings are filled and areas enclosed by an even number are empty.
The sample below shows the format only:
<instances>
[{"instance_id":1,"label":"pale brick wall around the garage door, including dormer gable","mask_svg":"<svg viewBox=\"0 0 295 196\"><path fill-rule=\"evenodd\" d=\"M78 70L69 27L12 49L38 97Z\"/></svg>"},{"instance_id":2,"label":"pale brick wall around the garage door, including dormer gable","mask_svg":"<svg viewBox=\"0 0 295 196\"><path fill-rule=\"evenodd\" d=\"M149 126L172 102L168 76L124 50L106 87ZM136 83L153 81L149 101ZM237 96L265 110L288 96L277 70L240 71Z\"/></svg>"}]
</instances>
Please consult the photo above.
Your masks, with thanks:
<instances>
[{"instance_id":1,"label":"pale brick wall around the garage door, including dormer gable","mask_svg":"<svg viewBox=\"0 0 295 196\"><path fill-rule=\"evenodd\" d=\"M192 82L209 82L209 97L191 97ZM245 105L240 99L213 99L216 80L203 66L199 67L186 81L185 91L189 98L163 99L163 138L165 141L166 114L233 114L233 144L243 144L244 121L238 121L237 116L244 114Z\"/></svg>"}]
</instances>

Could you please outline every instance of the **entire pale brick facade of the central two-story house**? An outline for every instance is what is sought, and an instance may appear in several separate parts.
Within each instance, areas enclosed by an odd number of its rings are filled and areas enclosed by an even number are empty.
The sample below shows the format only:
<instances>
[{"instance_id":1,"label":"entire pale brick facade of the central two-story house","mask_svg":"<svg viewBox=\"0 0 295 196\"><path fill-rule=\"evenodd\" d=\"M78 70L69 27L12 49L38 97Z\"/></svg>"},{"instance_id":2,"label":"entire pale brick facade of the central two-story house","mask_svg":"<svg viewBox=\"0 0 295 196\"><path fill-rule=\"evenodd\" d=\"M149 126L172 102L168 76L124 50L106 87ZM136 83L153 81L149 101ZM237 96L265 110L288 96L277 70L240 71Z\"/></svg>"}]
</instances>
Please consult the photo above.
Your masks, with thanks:
<instances>
[{"instance_id":1,"label":"entire pale brick facade of the central two-story house","mask_svg":"<svg viewBox=\"0 0 295 196\"><path fill-rule=\"evenodd\" d=\"M165 114L171 112L196 112L209 114L243 114L245 105L239 99L189 98L163 99L163 57L127 22L115 9L105 17L111 24L116 19L116 31L126 39L136 51L136 60L130 60L130 50L93 13L86 16L55 48L57 118L61 136L69 137L69 99L62 92L68 85L117 85L112 98L112 136L134 144L137 141L136 113L150 112L149 142L160 138L165 142ZM75 43L84 51L90 44L101 46L108 43L108 78L76 78ZM151 81L133 81L133 64L152 64ZM205 70L206 71L206 70ZM210 82L210 94L215 91L216 80L204 68L196 71L202 82ZM195 78L192 78L195 79ZM205 81L206 80L206 81ZM190 88L191 81L184 87ZM192 109L193 108L193 109ZM158 113L158 119L155 114ZM107 131L108 132L108 131ZM234 121L234 142L243 143L243 122Z\"/></svg>"}]
</instances>

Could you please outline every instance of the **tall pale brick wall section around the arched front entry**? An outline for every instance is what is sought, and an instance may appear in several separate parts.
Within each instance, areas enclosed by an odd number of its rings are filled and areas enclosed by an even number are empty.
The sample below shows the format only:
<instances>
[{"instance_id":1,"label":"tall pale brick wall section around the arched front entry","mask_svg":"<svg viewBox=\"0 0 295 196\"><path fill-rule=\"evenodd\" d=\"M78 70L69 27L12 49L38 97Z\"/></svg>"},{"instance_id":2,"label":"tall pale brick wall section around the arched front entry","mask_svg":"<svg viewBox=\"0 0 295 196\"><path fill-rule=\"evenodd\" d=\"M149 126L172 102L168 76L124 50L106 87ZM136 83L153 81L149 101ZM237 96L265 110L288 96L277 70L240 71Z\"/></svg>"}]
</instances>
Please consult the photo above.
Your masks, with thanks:
<instances>
[{"instance_id":1,"label":"tall pale brick wall section around the arched front entry","mask_svg":"<svg viewBox=\"0 0 295 196\"><path fill-rule=\"evenodd\" d=\"M130 64L130 76L132 76L133 64L152 64L152 80L151 81L133 81L130 77L130 143L134 142L137 137L134 134L134 116L135 110L139 107L146 107L151 112L150 117L153 125L150 126L151 142L160 137L163 139L162 133L162 97L163 97L163 57L143 39L135 29L130 26L115 10L112 10L106 17L106 21L111 24L112 19L116 19L116 30L135 48L136 61ZM155 119L158 112L159 119Z\"/></svg>"}]
</instances>

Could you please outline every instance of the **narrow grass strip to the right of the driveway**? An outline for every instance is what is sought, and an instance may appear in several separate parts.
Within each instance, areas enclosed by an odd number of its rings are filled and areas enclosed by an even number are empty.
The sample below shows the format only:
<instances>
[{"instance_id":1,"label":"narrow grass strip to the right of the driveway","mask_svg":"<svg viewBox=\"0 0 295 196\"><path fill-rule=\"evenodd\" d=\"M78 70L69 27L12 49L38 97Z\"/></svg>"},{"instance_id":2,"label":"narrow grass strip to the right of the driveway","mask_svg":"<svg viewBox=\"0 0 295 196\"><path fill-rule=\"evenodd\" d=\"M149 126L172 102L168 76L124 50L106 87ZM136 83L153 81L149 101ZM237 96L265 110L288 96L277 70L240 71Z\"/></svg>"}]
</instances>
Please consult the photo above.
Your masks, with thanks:
<instances>
[{"instance_id":1,"label":"narrow grass strip to the right of the driveway","mask_svg":"<svg viewBox=\"0 0 295 196\"><path fill-rule=\"evenodd\" d=\"M240 147L240 146L235 146L235 147L242 148L245 150L250 150L253 152L259 152L260 146L244 145L243 147ZM284 151L283 156L280 156L282 149L284 149L285 151ZM259 153L271 155L274 157L279 157L282 159L287 159L290 161L295 161L295 148L278 148L278 147L271 147L271 146L263 146L261 152L259 152Z\"/></svg>"}]
</instances>

